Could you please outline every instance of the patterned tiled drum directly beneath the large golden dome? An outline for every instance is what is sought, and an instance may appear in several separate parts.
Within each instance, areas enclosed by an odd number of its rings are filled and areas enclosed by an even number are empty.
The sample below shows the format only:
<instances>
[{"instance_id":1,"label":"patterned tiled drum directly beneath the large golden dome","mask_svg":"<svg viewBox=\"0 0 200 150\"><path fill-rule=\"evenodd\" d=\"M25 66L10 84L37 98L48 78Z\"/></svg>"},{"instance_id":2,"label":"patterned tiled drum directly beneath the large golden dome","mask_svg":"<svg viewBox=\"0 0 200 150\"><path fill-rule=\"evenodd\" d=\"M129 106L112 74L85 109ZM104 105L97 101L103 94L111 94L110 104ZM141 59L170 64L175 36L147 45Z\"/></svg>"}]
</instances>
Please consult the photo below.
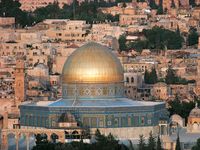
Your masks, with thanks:
<instances>
[{"instance_id":1,"label":"patterned tiled drum directly beneath the large golden dome","mask_svg":"<svg viewBox=\"0 0 200 150\"><path fill-rule=\"evenodd\" d=\"M64 99L112 99L124 96L123 83L112 84L64 84Z\"/></svg>"}]
</instances>

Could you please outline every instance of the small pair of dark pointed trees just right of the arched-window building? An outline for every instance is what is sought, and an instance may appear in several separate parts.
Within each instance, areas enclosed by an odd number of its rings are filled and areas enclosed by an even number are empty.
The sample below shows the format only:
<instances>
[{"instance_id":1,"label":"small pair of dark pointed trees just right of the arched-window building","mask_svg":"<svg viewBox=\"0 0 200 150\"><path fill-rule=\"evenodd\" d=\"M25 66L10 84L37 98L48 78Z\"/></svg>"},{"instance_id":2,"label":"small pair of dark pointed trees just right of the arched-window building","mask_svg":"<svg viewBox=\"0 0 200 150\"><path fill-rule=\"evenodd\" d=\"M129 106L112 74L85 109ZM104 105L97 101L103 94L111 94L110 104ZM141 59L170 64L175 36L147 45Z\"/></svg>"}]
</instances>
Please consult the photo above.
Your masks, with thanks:
<instances>
[{"instance_id":1,"label":"small pair of dark pointed trees just right of the arched-window building","mask_svg":"<svg viewBox=\"0 0 200 150\"><path fill-rule=\"evenodd\" d=\"M144 73L144 81L146 84L155 84L158 81L156 69L153 68L151 72L149 72L147 69Z\"/></svg>"}]
</instances>

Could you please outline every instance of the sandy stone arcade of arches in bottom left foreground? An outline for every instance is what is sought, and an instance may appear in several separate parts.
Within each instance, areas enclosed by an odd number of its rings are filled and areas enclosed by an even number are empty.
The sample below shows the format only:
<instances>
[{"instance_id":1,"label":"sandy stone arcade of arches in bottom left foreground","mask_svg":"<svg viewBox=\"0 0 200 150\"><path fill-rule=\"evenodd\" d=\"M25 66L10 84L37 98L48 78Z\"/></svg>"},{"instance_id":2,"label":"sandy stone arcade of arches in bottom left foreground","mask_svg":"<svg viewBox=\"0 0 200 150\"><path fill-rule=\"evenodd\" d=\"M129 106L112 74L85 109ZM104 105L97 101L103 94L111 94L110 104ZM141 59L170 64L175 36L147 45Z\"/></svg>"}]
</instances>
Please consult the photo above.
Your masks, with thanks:
<instances>
[{"instance_id":1,"label":"sandy stone arcade of arches in bottom left foreground","mask_svg":"<svg viewBox=\"0 0 200 150\"><path fill-rule=\"evenodd\" d=\"M30 137L36 135L43 135L45 139L51 142L66 142L68 139L83 139L87 138L87 131L84 129L2 129L1 134L1 150L8 150L9 139L8 136L12 136L15 139L15 149L20 150L19 140L21 136L25 137L26 140L26 149L30 149Z\"/></svg>"}]
</instances>

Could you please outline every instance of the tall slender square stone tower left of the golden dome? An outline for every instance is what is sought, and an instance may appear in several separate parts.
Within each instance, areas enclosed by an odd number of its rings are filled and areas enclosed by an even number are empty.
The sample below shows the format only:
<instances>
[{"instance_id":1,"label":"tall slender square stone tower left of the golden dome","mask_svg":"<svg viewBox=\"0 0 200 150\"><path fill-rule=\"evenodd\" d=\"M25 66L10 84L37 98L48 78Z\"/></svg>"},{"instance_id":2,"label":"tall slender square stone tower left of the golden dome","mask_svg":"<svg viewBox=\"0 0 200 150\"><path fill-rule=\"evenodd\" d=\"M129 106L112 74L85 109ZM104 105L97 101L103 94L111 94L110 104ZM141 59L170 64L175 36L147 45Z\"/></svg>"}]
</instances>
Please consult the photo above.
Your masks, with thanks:
<instances>
[{"instance_id":1,"label":"tall slender square stone tower left of the golden dome","mask_svg":"<svg viewBox=\"0 0 200 150\"><path fill-rule=\"evenodd\" d=\"M25 100L25 66L23 60L16 61L15 69L15 101Z\"/></svg>"}]
</instances>

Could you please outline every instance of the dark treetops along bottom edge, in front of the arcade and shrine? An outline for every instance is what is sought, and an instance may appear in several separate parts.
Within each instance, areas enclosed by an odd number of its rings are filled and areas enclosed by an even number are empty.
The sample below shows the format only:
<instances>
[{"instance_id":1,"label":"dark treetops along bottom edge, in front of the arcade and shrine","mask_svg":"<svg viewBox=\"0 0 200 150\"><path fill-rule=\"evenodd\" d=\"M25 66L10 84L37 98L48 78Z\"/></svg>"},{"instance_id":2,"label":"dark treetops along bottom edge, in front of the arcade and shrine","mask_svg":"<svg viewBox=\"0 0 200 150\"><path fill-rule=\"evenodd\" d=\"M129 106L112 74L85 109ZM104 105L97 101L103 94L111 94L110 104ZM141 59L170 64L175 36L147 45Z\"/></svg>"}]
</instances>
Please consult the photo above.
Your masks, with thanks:
<instances>
[{"instance_id":1,"label":"dark treetops along bottom edge, in front of the arcade and shrine","mask_svg":"<svg viewBox=\"0 0 200 150\"><path fill-rule=\"evenodd\" d=\"M123 144L114 138L112 134L102 135L99 130L95 132L96 142L92 144L80 142L51 143L44 140L41 135L36 137L36 146L32 150L128 150Z\"/></svg>"}]
</instances>

